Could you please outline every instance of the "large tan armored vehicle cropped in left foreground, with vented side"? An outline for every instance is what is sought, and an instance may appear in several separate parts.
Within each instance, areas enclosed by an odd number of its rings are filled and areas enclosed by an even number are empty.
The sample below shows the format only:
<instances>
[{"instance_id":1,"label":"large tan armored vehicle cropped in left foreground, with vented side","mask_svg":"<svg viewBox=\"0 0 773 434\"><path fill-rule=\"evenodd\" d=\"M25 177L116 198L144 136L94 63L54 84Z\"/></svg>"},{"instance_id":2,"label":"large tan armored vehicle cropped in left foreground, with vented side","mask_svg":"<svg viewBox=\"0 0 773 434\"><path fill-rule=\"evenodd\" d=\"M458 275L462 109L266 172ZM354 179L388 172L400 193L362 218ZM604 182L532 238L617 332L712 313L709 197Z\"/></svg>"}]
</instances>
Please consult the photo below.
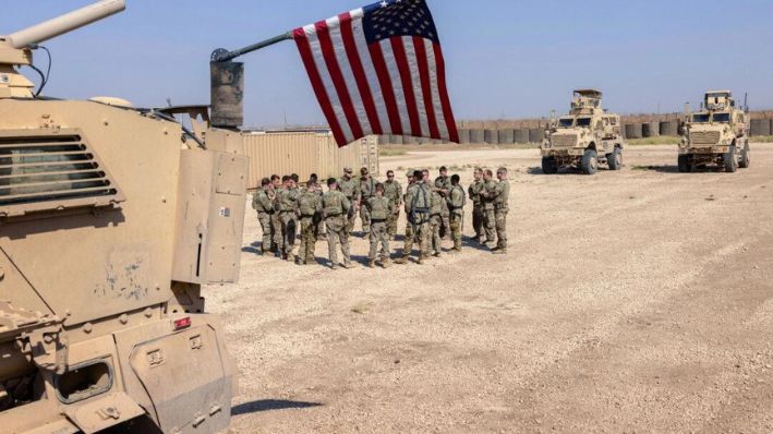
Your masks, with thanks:
<instances>
[{"instance_id":1,"label":"large tan armored vehicle cropped in left foreground, with vented side","mask_svg":"<svg viewBox=\"0 0 773 434\"><path fill-rule=\"evenodd\" d=\"M239 275L238 133L210 129L206 107L44 98L20 73L37 44L123 9L101 1L0 37L2 433L230 422L234 367L200 289Z\"/></svg>"}]
</instances>

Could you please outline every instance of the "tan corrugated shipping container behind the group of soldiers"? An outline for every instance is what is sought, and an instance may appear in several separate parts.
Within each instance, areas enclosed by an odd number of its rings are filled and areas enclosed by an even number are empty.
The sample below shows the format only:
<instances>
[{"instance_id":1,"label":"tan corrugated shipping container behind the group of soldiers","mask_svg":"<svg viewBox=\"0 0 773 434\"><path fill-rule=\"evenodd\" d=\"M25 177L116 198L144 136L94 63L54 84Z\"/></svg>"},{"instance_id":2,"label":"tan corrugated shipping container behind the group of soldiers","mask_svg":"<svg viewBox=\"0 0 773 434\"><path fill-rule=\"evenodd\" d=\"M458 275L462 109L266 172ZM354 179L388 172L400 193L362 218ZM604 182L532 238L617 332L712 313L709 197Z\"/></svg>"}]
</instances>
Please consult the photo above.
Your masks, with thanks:
<instances>
[{"instance_id":1,"label":"tan corrugated shipping container behind the group of soldiers","mask_svg":"<svg viewBox=\"0 0 773 434\"><path fill-rule=\"evenodd\" d=\"M249 188L271 174L298 173L305 182L312 173L321 180L339 177L345 167L355 172L367 167L378 176L378 140L369 136L338 147L328 131L246 131L242 133L250 157Z\"/></svg>"}]
</instances>

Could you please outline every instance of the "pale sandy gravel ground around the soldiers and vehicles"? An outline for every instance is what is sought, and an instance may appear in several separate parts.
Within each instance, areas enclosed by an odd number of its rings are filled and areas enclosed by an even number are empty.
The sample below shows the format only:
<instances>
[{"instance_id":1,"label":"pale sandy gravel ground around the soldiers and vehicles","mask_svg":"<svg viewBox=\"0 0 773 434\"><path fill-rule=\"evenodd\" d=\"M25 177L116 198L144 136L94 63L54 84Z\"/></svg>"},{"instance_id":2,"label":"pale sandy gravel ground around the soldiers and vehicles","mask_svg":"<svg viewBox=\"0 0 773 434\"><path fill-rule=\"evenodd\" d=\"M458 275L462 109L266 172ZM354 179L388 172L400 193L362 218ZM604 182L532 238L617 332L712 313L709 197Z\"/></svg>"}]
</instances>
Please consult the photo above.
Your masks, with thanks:
<instances>
[{"instance_id":1,"label":"pale sandy gravel ground around the soldiers and vehicles","mask_svg":"<svg viewBox=\"0 0 773 434\"><path fill-rule=\"evenodd\" d=\"M678 173L673 146L624 159L594 177L544 176L536 149L383 159L401 179L467 167L464 185L507 166L506 256L333 272L319 242L301 267L255 254L249 213L241 282L205 291L239 365L231 432L773 432L773 145L733 174Z\"/></svg>"}]
</instances>

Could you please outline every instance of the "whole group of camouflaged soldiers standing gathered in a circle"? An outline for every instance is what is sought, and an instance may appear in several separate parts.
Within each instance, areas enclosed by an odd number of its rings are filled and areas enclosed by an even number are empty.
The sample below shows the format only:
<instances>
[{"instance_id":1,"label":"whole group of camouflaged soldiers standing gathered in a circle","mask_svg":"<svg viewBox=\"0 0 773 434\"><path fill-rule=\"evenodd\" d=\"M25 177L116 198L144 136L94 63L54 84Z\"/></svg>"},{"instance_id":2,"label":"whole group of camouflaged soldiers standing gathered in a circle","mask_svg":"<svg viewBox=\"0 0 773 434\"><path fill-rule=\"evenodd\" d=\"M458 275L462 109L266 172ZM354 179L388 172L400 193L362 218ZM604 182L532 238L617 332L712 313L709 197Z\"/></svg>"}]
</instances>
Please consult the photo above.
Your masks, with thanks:
<instances>
[{"instance_id":1,"label":"whole group of camouflaged soldiers standing gathered in a circle","mask_svg":"<svg viewBox=\"0 0 773 434\"><path fill-rule=\"evenodd\" d=\"M253 208L263 230L264 255L275 253L299 265L315 264L316 242L327 240L330 267L351 268L349 237L354 229L357 216L362 221L363 237L369 237L369 266L383 267L390 264L389 242L397 236L397 222L401 208L407 225L404 245L395 258L396 264L408 263L414 243L419 244L418 263L431 256L442 255L442 240L450 238L451 252L462 248L464 205L472 202L473 240L481 245L495 243L495 254L507 253L507 213L510 185L507 169L499 168L496 179L491 170L475 168L473 182L467 192L459 183L459 176L448 176L446 167L433 182L428 170L410 170L406 173L407 186L395 179L392 170L387 179L378 182L367 168L360 170L359 179L346 168L339 179L327 180L323 191L316 174L305 186L299 186L297 174L264 178L261 189L253 196ZM300 246L295 255L295 238L300 227ZM342 264L338 262L338 251Z\"/></svg>"}]
</instances>

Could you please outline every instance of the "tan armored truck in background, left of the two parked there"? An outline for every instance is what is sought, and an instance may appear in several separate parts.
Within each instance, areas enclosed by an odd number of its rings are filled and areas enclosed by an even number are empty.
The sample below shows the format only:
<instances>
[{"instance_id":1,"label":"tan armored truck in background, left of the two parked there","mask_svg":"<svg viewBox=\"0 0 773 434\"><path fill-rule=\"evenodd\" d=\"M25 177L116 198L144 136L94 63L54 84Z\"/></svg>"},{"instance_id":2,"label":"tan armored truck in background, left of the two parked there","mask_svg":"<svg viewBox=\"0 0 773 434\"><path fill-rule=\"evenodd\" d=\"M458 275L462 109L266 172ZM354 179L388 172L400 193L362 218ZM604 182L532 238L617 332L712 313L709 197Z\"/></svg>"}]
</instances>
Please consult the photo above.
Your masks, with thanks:
<instances>
[{"instance_id":1,"label":"tan armored truck in background, left of the two parked there","mask_svg":"<svg viewBox=\"0 0 773 434\"><path fill-rule=\"evenodd\" d=\"M564 166L587 174L595 173L600 164L609 170L623 167L620 117L602 109L601 99L599 91L575 91L569 114L552 122L542 144L544 173L556 173Z\"/></svg>"}]
</instances>

